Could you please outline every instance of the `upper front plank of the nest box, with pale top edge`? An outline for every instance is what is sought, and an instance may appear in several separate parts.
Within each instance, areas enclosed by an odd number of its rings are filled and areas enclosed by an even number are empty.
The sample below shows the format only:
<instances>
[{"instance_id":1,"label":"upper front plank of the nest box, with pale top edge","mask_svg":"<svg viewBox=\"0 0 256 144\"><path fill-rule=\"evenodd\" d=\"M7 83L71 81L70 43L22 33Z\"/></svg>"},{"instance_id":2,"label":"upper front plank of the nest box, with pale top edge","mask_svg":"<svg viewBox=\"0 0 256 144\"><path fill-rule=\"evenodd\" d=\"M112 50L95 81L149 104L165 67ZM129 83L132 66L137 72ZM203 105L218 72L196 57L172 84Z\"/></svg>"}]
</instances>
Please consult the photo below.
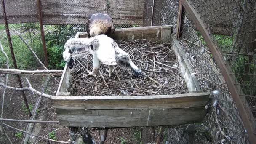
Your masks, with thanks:
<instances>
[{"instance_id":1,"label":"upper front plank of the nest box, with pale top edge","mask_svg":"<svg viewBox=\"0 0 256 144\"><path fill-rule=\"evenodd\" d=\"M58 109L169 109L204 107L209 93L160 96L54 96Z\"/></svg>"}]
</instances>

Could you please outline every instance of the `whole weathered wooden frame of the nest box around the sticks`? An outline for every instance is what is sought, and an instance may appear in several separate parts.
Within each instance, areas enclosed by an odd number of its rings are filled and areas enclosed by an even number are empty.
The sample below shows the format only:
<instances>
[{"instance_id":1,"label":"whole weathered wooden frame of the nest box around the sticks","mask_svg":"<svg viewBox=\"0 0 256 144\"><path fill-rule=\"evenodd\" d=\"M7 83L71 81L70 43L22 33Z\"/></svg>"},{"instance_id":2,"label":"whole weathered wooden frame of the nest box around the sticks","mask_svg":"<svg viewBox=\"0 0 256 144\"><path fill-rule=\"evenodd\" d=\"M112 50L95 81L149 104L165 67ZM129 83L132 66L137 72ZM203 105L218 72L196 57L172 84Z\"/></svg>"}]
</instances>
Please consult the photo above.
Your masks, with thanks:
<instances>
[{"instance_id":1,"label":"whole weathered wooden frame of the nest box around the sticks","mask_svg":"<svg viewBox=\"0 0 256 144\"><path fill-rule=\"evenodd\" d=\"M200 90L179 43L171 37L171 26L116 29L115 40L145 39L172 43L179 69L187 83L187 94L160 96L69 96L71 70L64 73L53 104L61 125L86 127L134 127L199 123L205 117L209 93ZM76 37L86 37L86 32Z\"/></svg>"}]
</instances>

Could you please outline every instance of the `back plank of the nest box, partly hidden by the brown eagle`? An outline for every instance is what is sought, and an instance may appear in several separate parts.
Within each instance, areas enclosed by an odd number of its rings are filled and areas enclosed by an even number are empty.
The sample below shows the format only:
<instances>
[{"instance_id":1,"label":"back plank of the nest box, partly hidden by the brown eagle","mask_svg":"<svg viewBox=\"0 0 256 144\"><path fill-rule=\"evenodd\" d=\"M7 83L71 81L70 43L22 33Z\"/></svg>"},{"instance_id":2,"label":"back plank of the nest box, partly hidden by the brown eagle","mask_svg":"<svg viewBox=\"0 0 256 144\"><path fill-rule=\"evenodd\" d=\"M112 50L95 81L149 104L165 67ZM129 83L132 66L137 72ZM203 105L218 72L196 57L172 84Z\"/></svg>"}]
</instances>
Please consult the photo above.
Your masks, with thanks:
<instances>
[{"instance_id":1,"label":"back plank of the nest box, partly hidden by the brown eagle","mask_svg":"<svg viewBox=\"0 0 256 144\"><path fill-rule=\"evenodd\" d=\"M137 39L144 39L145 41L160 41L160 43L165 43L170 40L172 26L153 26L153 27L132 27L115 29L114 34L110 35L114 40L126 40L133 41ZM163 32L163 36L162 36ZM87 37L87 32L80 32L79 37Z\"/></svg>"}]
</instances>

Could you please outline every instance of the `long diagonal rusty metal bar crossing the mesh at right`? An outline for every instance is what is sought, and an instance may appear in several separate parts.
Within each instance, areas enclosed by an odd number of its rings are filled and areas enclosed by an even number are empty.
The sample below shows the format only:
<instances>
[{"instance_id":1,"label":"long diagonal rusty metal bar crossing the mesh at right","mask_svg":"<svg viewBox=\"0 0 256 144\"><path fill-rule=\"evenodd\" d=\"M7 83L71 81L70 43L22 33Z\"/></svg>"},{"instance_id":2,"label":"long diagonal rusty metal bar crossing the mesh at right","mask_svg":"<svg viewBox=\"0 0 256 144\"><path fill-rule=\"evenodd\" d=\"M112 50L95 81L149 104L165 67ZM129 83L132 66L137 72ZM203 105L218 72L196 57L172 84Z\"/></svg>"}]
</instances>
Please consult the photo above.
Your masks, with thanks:
<instances>
[{"instance_id":1,"label":"long diagonal rusty metal bar crossing the mesh at right","mask_svg":"<svg viewBox=\"0 0 256 144\"><path fill-rule=\"evenodd\" d=\"M217 60L216 63L219 66L221 73L227 83L229 92L231 93L231 96L235 101L237 111L242 118L243 125L245 126L248 133L248 139L251 144L255 144L256 135L254 134L254 128L252 123L250 122L249 114L243 105L243 101L239 97L239 92L237 91L237 87L235 86L234 75L226 66L226 62L222 59L221 52L218 50L217 45L213 42L208 30L205 27L205 24L203 24L203 21L195 8L193 8L193 6L187 0L181 0L181 4L192 17L192 20L195 22L197 29L201 32L207 46L213 54L213 58Z\"/></svg>"}]
</instances>

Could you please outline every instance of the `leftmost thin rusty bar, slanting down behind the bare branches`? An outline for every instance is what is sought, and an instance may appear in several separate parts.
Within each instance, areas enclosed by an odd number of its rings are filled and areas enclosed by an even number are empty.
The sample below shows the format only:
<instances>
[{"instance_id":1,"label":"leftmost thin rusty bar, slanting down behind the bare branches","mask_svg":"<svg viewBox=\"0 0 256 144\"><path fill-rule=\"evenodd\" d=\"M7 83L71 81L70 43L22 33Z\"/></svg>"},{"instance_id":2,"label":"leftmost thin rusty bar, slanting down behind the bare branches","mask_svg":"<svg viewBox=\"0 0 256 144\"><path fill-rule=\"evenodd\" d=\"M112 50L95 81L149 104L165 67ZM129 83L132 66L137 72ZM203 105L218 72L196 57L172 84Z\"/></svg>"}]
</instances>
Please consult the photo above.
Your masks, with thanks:
<instances>
[{"instance_id":1,"label":"leftmost thin rusty bar, slanting down behind the bare branches","mask_svg":"<svg viewBox=\"0 0 256 144\"><path fill-rule=\"evenodd\" d=\"M9 42L9 46L10 46L11 56L12 56L12 59L13 59L13 65L14 65L15 69L18 69L17 63L16 63L16 59L15 59L15 56L14 56L14 52L13 52L13 45L11 43L11 35L10 35L9 27L8 27L8 21L7 21L7 16L6 16L6 12L5 12L5 2L4 2L4 0L2 0L2 8L3 8L3 16L4 16L4 21L5 21L6 34L7 34L7 38L8 38L8 42ZM21 77L19 75L17 75L17 78L18 78L19 86L21 88L23 88L22 83L21 83ZM30 109L29 109L29 104L27 102L27 98L26 98L25 92L21 91L21 93L23 95L23 99L25 101L27 110L29 112L29 116L32 117L32 114L31 114Z\"/></svg>"}]
</instances>

